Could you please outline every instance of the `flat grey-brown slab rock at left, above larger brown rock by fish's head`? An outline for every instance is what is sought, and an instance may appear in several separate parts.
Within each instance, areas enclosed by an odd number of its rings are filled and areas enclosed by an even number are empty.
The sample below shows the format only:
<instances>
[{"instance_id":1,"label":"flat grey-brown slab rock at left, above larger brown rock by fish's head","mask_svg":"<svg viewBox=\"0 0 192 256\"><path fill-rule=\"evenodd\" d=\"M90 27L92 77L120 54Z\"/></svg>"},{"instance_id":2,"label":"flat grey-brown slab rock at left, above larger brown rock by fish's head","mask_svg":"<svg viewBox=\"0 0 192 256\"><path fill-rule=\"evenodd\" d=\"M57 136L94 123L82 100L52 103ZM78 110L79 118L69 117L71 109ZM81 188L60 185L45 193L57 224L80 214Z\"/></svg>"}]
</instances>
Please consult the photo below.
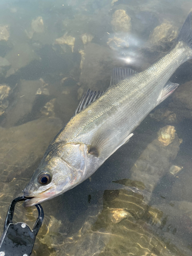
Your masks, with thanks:
<instances>
[{"instance_id":1,"label":"flat grey-brown slab rock at left, above larger brown rock by fish's head","mask_svg":"<svg viewBox=\"0 0 192 256\"><path fill-rule=\"evenodd\" d=\"M31 113L36 92L42 86L40 80L21 80L17 85L17 92L14 101L6 112L6 127L15 125L19 120Z\"/></svg>"}]
</instances>

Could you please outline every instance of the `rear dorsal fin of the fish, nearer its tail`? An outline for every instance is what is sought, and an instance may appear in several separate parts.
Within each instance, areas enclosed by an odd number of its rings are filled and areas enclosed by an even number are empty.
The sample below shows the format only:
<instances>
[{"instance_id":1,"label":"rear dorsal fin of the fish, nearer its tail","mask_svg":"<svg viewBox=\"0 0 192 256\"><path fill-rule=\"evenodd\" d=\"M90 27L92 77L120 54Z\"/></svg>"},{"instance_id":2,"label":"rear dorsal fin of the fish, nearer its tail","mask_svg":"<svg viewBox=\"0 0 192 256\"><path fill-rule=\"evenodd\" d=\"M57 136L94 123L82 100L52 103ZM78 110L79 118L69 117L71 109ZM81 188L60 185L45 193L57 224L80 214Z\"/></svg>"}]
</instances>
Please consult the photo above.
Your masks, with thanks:
<instances>
[{"instance_id":1,"label":"rear dorsal fin of the fish, nearer its tail","mask_svg":"<svg viewBox=\"0 0 192 256\"><path fill-rule=\"evenodd\" d=\"M110 87L114 86L121 80L124 80L125 78L135 74L137 74L137 72L130 68L114 68L111 77Z\"/></svg>"}]
</instances>

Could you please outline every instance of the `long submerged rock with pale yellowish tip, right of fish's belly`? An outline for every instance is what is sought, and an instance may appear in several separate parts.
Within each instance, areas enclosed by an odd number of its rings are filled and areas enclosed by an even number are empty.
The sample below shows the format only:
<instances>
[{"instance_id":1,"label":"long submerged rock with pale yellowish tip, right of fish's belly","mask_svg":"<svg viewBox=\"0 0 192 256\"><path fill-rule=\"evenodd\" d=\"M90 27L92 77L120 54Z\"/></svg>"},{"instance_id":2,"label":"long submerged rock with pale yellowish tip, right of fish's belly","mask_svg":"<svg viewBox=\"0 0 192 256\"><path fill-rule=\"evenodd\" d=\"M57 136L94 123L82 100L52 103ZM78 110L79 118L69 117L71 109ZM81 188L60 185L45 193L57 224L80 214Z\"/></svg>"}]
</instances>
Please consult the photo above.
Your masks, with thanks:
<instances>
[{"instance_id":1,"label":"long submerged rock with pale yellowish tip, right of fish's belly","mask_svg":"<svg viewBox=\"0 0 192 256\"><path fill-rule=\"evenodd\" d=\"M161 136L163 134L163 137L160 137L163 139L160 141L159 134ZM146 194L144 195L144 191L141 193L143 193L146 203L151 199L152 191L159 179L167 173L167 170L172 165L171 160L176 158L180 143L181 140L175 133L174 126L163 127L158 132L158 138L146 146L131 168L131 179L141 181L145 185Z\"/></svg>"}]
</instances>

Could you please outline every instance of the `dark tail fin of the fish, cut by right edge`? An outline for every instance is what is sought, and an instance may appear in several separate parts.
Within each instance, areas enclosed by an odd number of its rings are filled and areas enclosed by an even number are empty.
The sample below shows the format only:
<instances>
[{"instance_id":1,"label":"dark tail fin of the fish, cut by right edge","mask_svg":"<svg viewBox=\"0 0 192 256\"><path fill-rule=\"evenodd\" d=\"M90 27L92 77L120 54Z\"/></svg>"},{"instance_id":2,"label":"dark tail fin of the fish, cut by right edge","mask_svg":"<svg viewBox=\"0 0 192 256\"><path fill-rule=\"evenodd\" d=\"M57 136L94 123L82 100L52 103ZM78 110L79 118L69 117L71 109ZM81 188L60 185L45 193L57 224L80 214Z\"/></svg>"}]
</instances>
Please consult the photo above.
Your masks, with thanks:
<instances>
[{"instance_id":1,"label":"dark tail fin of the fish, cut by right edge","mask_svg":"<svg viewBox=\"0 0 192 256\"><path fill-rule=\"evenodd\" d=\"M183 24L178 41L184 41L188 47L192 48L192 12L189 13Z\"/></svg>"}]
</instances>

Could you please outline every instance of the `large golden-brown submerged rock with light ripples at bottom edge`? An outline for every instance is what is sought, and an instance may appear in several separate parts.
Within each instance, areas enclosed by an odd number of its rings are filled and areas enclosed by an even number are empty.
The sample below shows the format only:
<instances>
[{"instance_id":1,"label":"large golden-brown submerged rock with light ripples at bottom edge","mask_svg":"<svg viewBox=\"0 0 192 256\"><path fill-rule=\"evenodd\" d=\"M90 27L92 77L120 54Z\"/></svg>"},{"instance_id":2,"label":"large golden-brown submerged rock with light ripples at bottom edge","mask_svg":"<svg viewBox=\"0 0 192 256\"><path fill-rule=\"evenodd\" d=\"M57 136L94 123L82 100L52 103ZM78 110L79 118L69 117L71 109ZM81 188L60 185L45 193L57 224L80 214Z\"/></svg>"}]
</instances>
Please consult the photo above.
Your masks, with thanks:
<instances>
[{"instance_id":1,"label":"large golden-brown submerged rock with light ripples at bottom edge","mask_svg":"<svg viewBox=\"0 0 192 256\"><path fill-rule=\"evenodd\" d=\"M167 246L146 219L137 215L140 209L145 212L145 218L153 218L154 224L163 216L162 211L143 204L137 193L125 189L105 190L103 210L88 218L77 234L64 240L58 256L190 255L190 250L182 248L182 251L169 241Z\"/></svg>"}]
</instances>

